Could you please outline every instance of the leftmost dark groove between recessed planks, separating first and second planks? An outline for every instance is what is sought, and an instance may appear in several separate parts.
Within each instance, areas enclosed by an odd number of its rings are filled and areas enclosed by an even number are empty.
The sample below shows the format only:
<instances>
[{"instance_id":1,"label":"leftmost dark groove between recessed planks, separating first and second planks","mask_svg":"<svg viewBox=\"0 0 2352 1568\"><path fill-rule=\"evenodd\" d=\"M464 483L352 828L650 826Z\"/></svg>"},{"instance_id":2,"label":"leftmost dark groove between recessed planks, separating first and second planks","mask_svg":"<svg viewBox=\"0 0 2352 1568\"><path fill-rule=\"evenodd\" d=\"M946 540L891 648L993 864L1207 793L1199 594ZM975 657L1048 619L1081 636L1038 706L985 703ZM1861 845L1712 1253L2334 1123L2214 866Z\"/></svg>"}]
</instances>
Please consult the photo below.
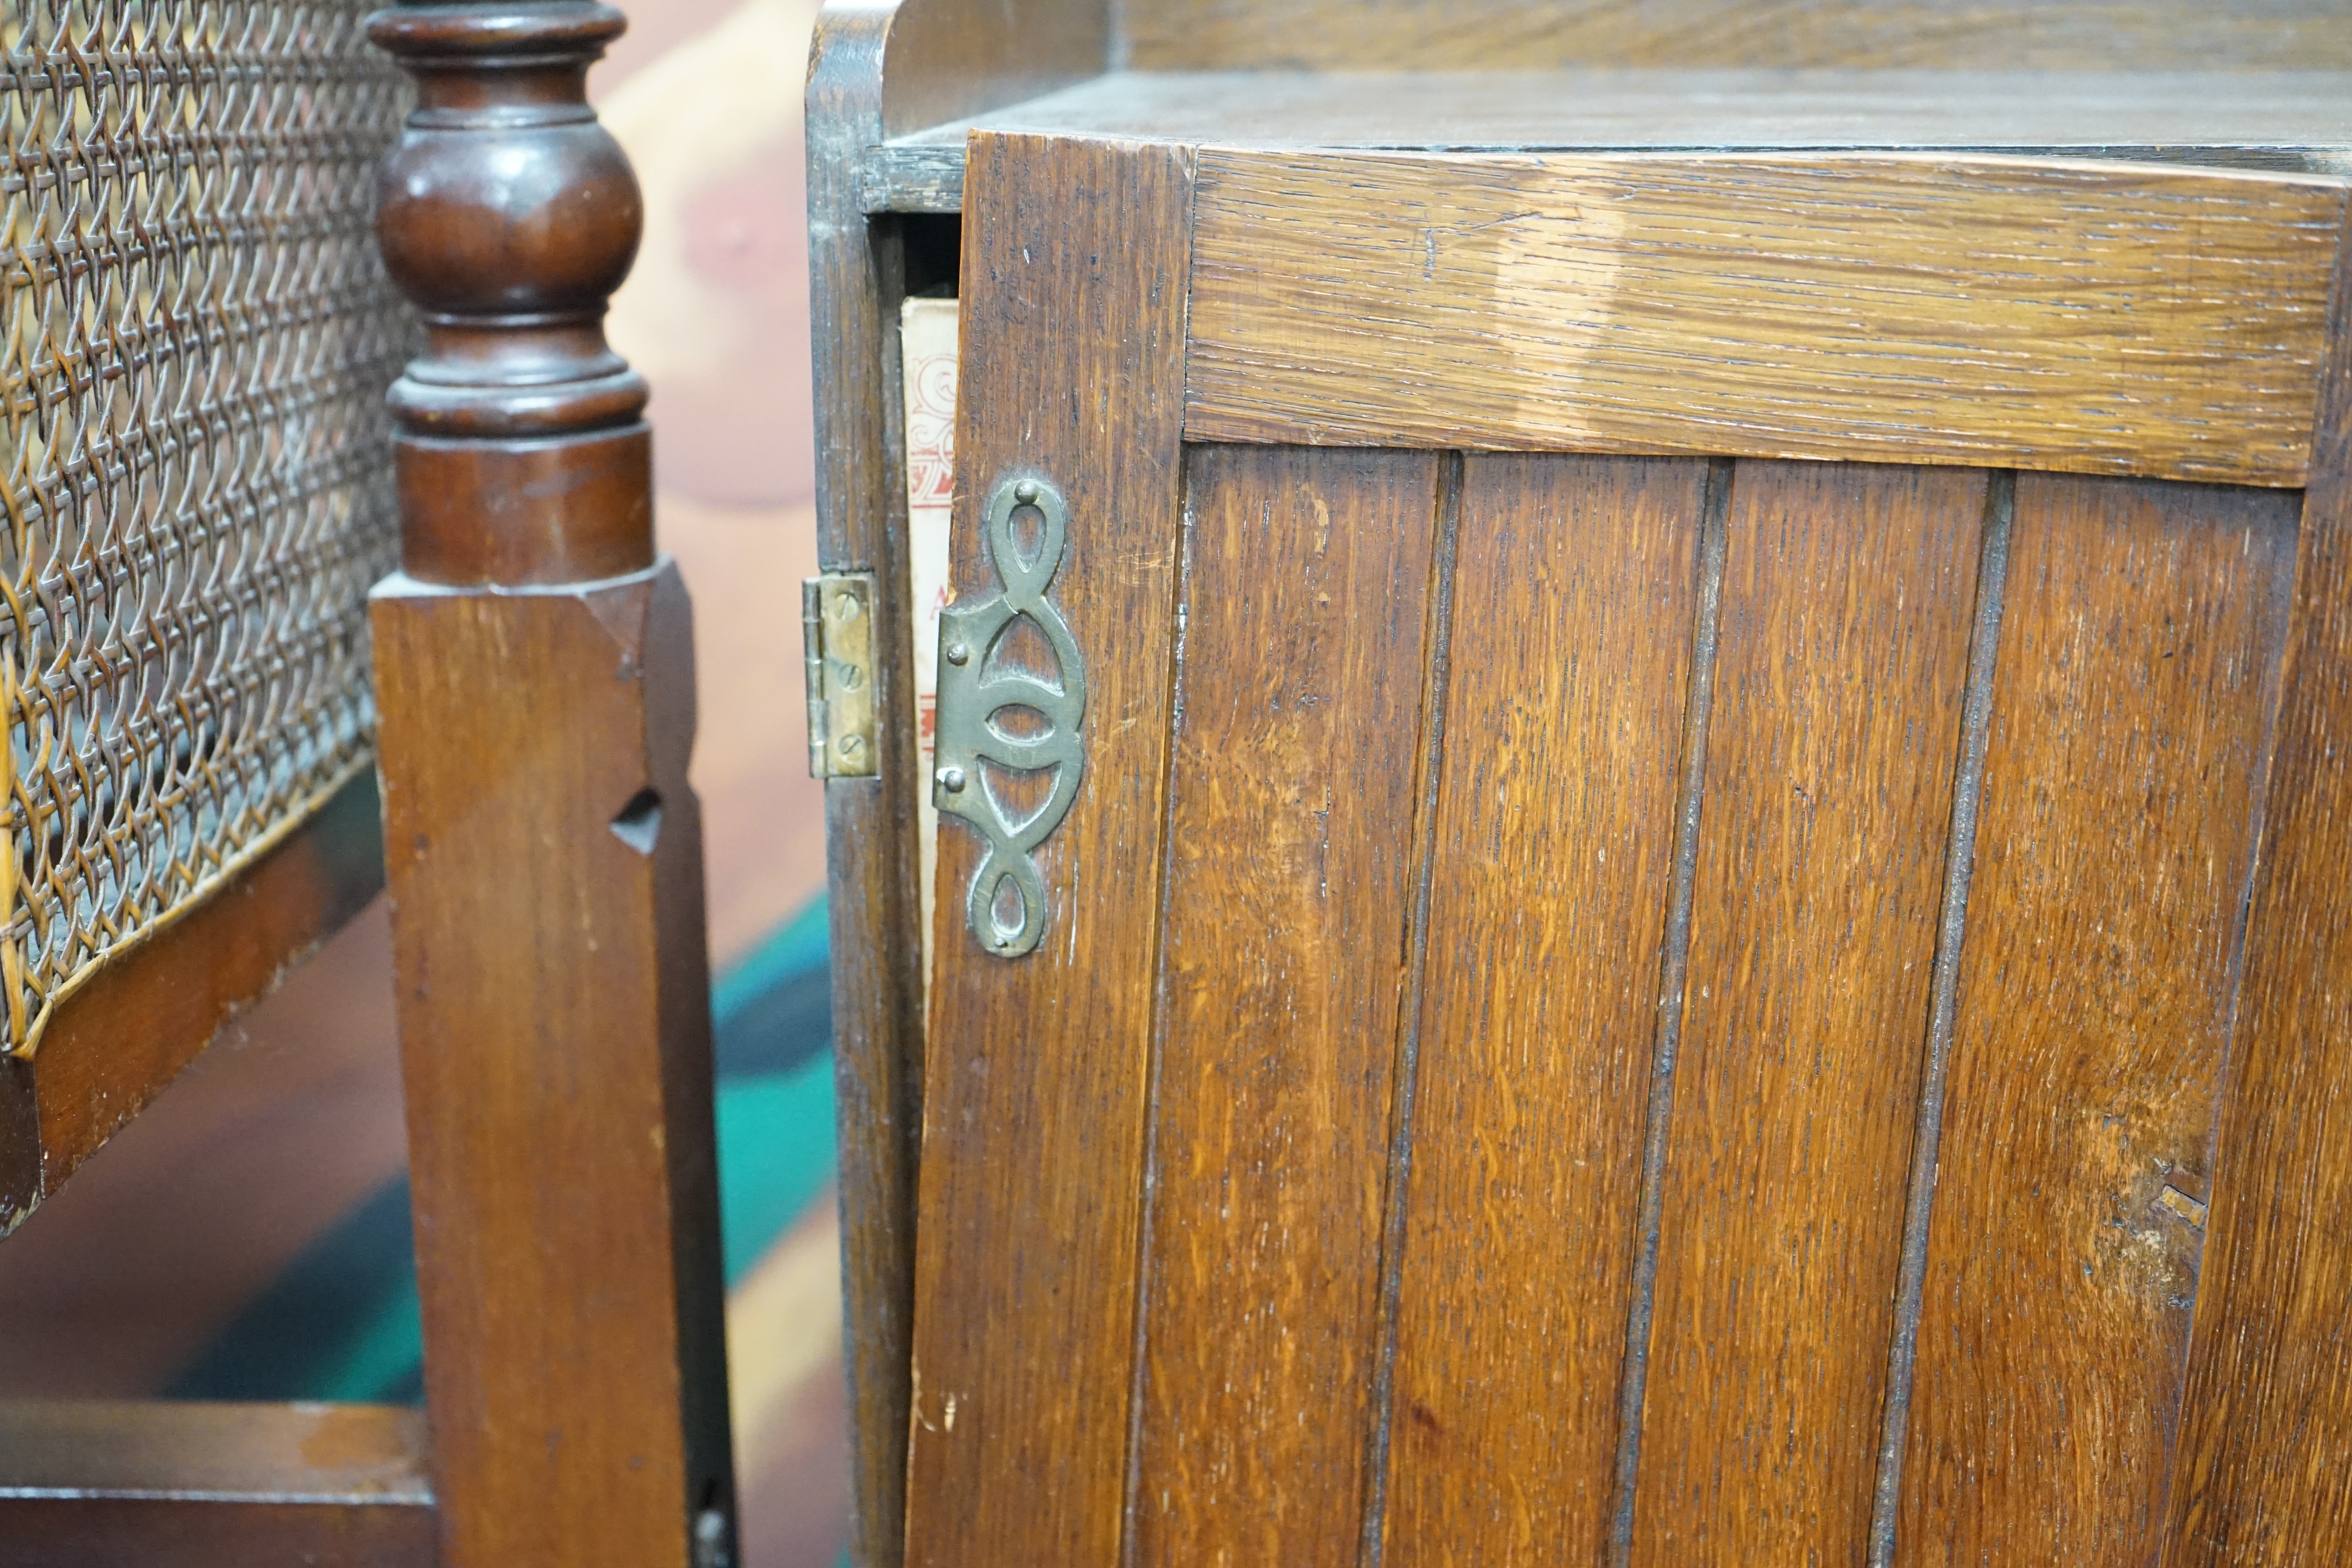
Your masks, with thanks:
<instances>
[{"instance_id":1,"label":"leftmost dark groove between recessed planks, separating first and second planks","mask_svg":"<svg viewBox=\"0 0 2352 1568\"><path fill-rule=\"evenodd\" d=\"M1421 752L1414 776L1414 919L1404 936L1406 985L1397 1009L1395 1112L1381 1190L1378 1361L1371 1434L1364 1446L1364 1516L1357 1559L1381 1568L1388 1549L1388 1453L1397 1413L1397 1295L1404 1279L1404 1213L1411 1201L1414 1107L1421 1098L1421 999L1430 957L1430 891L1437 860L1437 802L1446 762L1446 689L1454 675L1454 576L1461 550L1463 454L1437 470L1437 548L1430 559L1430 632L1421 691Z\"/></svg>"}]
</instances>

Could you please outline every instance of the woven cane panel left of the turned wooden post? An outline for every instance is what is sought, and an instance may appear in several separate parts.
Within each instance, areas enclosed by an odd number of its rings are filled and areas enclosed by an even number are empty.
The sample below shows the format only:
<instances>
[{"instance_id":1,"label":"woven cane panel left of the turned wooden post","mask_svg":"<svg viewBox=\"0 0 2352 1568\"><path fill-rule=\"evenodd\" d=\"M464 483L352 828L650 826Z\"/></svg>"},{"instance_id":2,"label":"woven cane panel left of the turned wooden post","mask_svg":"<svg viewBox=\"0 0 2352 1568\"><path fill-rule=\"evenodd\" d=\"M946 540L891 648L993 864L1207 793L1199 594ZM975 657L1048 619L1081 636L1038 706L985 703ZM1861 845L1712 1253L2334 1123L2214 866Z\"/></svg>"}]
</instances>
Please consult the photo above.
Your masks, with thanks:
<instances>
[{"instance_id":1,"label":"woven cane panel left of the turned wooden post","mask_svg":"<svg viewBox=\"0 0 2352 1568\"><path fill-rule=\"evenodd\" d=\"M376 0L0 0L5 1048L369 766Z\"/></svg>"}]
</instances>

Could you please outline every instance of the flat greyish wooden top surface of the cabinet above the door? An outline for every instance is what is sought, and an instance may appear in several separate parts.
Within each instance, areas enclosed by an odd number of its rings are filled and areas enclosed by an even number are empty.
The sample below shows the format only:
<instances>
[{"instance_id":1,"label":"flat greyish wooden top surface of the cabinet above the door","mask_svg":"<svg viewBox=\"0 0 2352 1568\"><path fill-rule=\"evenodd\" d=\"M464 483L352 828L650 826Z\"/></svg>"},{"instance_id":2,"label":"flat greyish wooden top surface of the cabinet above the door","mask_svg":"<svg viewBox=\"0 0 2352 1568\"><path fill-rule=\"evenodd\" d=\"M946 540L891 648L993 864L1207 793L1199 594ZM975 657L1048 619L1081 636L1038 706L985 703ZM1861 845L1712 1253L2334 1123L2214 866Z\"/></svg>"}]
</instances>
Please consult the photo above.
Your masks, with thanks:
<instances>
[{"instance_id":1,"label":"flat greyish wooden top surface of the cabinet above the door","mask_svg":"<svg viewBox=\"0 0 2352 1568\"><path fill-rule=\"evenodd\" d=\"M866 148L873 212L955 212L971 127L1247 148L1955 148L2328 172L2336 71L1110 71Z\"/></svg>"}]
</instances>

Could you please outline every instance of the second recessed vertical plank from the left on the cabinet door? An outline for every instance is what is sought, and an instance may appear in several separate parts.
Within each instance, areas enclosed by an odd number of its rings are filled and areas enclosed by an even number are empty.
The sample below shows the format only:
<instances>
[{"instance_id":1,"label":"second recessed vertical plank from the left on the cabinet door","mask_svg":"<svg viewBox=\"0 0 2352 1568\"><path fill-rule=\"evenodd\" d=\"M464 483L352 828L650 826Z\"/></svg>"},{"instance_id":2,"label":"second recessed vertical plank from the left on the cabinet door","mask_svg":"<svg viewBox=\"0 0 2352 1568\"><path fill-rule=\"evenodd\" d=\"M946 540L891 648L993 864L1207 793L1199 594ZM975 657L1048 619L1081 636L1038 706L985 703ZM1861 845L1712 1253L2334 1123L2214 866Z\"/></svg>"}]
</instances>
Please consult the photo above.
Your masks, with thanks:
<instances>
[{"instance_id":1,"label":"second recessed vertical plank from the left on the cabinet door","mask_svg":"<svg viewBox=\"0 0 2352 1568\"><path fill-rule=\"evenodd\" d=\"M1599 1561L1708 465L1472 456L1383 1561Z\"/></svg>"}]
</instances>

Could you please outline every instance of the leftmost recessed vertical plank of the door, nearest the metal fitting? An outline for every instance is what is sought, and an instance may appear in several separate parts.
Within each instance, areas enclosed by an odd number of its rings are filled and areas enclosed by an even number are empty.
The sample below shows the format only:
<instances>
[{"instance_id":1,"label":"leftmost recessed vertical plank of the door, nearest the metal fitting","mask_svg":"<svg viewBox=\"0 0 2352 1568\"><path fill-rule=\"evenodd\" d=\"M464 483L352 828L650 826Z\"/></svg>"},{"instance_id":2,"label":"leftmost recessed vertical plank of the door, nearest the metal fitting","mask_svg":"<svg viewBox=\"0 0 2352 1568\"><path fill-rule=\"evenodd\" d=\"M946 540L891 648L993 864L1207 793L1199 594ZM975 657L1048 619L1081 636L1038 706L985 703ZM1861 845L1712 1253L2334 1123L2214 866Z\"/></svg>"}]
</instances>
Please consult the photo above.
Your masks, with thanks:
<instances>
[{"instance_id":1,"label":"leftmost recessed vertical plank of the door, nearest the metal fitting","mask_svg":"<svg viewBox=\"0 0 2352 1568\"><path fill-rule=\"evenodd\" d=\"M1138 1335L1150 1568L1355 1561L1437 470L1425 451L1188 458Z\"/></svg>"}]
</instances>

